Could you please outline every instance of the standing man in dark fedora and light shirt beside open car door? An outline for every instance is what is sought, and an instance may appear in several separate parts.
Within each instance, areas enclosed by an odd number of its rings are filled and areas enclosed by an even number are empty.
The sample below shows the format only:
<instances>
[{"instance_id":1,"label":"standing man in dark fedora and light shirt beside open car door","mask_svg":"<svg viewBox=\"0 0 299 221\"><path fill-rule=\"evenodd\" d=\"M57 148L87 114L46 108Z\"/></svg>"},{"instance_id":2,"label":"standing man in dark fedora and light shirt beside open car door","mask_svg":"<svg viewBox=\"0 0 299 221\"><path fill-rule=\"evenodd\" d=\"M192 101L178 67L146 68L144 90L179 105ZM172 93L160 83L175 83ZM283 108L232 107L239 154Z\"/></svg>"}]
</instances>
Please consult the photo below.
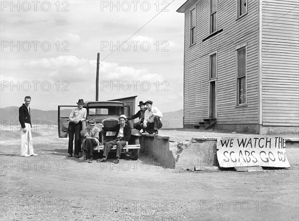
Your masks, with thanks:
<instances>
[{"instance_id":1,"label":"standing man in dark fedora and light shirt beside open car door","mask_svg":"<svg viewBox=\"0 0 299 221\"><path fill-rule=\"evenodd\" d=\"M73 140L75 136L75 157L79 158L79 149L81 146L80 140L80 130L82 127L82 121L86 118L87 110L83 108L84 101L83 99L78 100L78 107L72 110L69 116L69 128L68 128L68 136L69 136L69 144L68 144L68 156L73 156Z\"/></svg>"}]
</instances>

